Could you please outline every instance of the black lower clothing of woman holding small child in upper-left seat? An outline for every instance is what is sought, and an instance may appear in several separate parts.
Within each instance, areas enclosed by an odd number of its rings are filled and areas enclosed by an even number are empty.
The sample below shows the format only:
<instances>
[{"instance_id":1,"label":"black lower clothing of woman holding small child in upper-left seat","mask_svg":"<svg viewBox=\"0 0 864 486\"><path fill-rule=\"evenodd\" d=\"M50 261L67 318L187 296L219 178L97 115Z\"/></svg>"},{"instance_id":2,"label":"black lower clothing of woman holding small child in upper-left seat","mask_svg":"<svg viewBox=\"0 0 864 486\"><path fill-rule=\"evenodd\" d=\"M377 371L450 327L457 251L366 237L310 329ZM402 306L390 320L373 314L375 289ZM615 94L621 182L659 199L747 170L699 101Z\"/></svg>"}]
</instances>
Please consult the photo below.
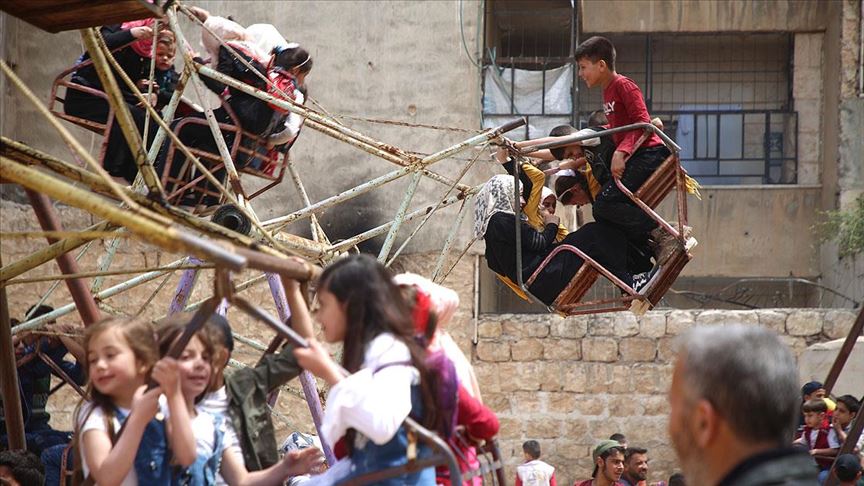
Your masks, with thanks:
<instances>
[{"instance_id":1,"label":"black lower clothing of woman holding small child in upper-left seat","mask_svg":"<svg viewBox=\"0 0 864 486\"><path fill-rule=\"evenodd\" d=\"M126 104L129 108L129 113L138 127L138 133L144 133L144 119L146 111L140 106ZM67 115L77 116L97 123L106 123L108 121L108 102L98 96L93 96L88 93L83 93L78 90L67 90L66 99L63 102L63 110ZM153 143L156 137L156 132L159 126L156 123L150 123L150 130L147 134L147 141L144 144L145 150ZM135 157L132 151L129 150L129 144L123 136L123 130L116 118L111 124L111 131L108 134L108 146L105 149L105 159L102 162L105 170L114 177L122 177L131 184L138 175L138 166L135 165Z\"/></svg>"}]
</instances>

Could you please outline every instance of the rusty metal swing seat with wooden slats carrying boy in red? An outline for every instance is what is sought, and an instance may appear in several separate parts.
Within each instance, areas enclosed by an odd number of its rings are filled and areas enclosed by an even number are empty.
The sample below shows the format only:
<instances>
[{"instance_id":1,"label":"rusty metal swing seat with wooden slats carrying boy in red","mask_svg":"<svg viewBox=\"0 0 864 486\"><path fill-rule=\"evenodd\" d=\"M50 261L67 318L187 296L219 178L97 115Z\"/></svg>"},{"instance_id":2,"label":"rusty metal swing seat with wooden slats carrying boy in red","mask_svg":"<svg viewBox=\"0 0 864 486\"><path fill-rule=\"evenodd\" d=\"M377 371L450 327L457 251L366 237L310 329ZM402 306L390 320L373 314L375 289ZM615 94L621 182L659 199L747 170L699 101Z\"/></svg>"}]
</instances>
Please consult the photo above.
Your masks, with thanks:
<instances>
[{"instance_id":1,"label":"rusty metal swing seat with wooden slats carrying boy in red","mask_svg":"<svg viewBox=\"0 0 864 486\"><path fill-rule=\"evenodd\" d=\"M522 153L531 153L537 150L560 147L580 142L588 138L595 138L598 135L609 136L614 133L640 129L644 130L646 135L650 135L651 133L659 135L663 143L672 152L672 155L666 158L666 160L654 171L651 177L645 181L645 183L643 183L635 193L624 187L621 180L618 178L615 178L615 184L622 193L626 194L627 197L634 202L634 204L642 209L642 211L644 211L651 219L656 221L664 231L672 235L678 245L673 250L671 257L657 270L658 274L654 277L652 283L642 292L637 292L632 286L621 281L621 279L613 275L608 269L600 265L590 256L586 255L579 248L566 244L556 246L555 249L553 249L546 258L544 258L527 281L523 282L521 272L516 272L518 279L516 282L517 286L533 301L542 304L537 297L531 294L528 287L534 283L549 262L561 252L574 253L582 259L582 265L570 279L570 282L558 294L558 297L555 298L552 304L547 306L551 312L557 312L563 316L573 316L602 312L617 312L629 309L635 314L644 314L660 302L678 278L678 275L680 275L681 271L692 258L690 250L697 242L694 238L688 238L684 234L684 226L687 224L687 172L683 167L681 167L681 162L678 156L681 148L654 125L651 125L650 123L635 123L632 125L608 129L598 134L588 136L570 135L568 137L562 137L560 141L525 147L522 149ZM518 177L519 164L514 164L514 167L514 190L516 200L518 201L521 192ZM676 193L678 213L678 222L675 227L655 211L655 208L673 190ZM518 209L519 205L516 204L515 207L517 208L516 224L519 225L521 224L518 217L518 211L520 211L520 209ZM522 268L522 241L518 226L516 229L516 268ZM612 284L621 291L622 295L620 297L595 299L583 302L588 291L601 276L612 282Z\"/></svg>"}]
</instances>

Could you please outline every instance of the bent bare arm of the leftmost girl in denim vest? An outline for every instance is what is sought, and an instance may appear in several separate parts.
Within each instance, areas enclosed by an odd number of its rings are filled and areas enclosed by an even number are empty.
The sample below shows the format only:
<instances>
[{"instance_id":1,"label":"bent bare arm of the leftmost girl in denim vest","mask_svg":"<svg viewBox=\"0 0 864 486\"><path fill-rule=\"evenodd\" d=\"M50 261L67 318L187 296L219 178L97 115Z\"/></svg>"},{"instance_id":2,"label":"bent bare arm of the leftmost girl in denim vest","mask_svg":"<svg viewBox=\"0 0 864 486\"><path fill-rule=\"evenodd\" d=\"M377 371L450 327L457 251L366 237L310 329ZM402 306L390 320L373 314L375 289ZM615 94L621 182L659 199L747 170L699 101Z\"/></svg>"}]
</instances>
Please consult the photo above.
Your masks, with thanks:
<instances>
[{"instance_id":1,"label":"bent bare arm of the leftmost girl in denim vest","mask_svg":"<svg viewBox=\"0 0 864 486\"><path fill-rule=\"evenodd\" d=\"M161 388L144 393L144 387L135 393L132 411L126 419L123 435L112 446L107 430L91 429L84 432L84 460L90 469L90 477L100 486L114 486L132 471L135 454L147 423L156 415Z\"/></svg>"}]
</instances>

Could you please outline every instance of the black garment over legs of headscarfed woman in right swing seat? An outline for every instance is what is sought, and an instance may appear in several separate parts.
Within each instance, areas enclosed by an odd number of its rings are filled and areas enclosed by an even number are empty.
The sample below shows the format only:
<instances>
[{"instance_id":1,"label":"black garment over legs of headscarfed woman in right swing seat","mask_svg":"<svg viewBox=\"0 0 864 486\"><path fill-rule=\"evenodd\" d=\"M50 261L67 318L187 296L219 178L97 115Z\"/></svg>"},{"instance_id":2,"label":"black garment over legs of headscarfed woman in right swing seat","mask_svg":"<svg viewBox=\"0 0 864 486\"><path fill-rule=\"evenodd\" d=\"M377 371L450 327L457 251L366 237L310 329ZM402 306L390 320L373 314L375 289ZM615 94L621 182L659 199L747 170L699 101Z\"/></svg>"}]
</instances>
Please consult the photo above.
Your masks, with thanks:
<instances>
[{"instance_id":1,"label":"black garment over legs of headscarfed woman in right swing seat","mask_svg":"<svg viewBox=\"0 0 864 486\"><path fill-rule=\"evenodd\" d=\"M624 283L631 283L633 277L627 271L627 241L618 229L604 223L588 223L567 235L560 244L579 248ZM544 303L551 304L570 283L582 263L582 258L575 253L566 250L558 253L537 276L529 290ZM535 269L536 266L526 269L530 271L525 272L525 280Z\"/></svg>"}]
</instances>

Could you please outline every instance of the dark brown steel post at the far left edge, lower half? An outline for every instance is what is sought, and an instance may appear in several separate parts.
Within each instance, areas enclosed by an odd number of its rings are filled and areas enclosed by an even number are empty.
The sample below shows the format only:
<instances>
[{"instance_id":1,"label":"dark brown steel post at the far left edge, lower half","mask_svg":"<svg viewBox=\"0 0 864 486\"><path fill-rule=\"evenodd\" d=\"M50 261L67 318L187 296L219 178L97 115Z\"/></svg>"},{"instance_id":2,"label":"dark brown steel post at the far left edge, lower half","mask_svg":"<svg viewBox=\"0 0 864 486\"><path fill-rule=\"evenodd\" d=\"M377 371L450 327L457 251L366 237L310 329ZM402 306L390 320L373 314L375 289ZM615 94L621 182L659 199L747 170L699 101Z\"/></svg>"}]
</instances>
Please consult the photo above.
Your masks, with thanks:
<instances>
[{"instance_id":1,"label":"dark brown steel post at the far left edge, lower half","mask_svg":"<svg viewBox=\"0 0 864 486\"><path fill-rule=\"evenodd\" d=\"M2 264L2 260L0 260ZM18 393L18 368L15 366L15 349L12 347L12 323L9 319L9 299L6 289L0 288L0 390L6 420L7 443L12 450L24 450L24 414L21 395Z\"/></svg>"}]
</instances>

